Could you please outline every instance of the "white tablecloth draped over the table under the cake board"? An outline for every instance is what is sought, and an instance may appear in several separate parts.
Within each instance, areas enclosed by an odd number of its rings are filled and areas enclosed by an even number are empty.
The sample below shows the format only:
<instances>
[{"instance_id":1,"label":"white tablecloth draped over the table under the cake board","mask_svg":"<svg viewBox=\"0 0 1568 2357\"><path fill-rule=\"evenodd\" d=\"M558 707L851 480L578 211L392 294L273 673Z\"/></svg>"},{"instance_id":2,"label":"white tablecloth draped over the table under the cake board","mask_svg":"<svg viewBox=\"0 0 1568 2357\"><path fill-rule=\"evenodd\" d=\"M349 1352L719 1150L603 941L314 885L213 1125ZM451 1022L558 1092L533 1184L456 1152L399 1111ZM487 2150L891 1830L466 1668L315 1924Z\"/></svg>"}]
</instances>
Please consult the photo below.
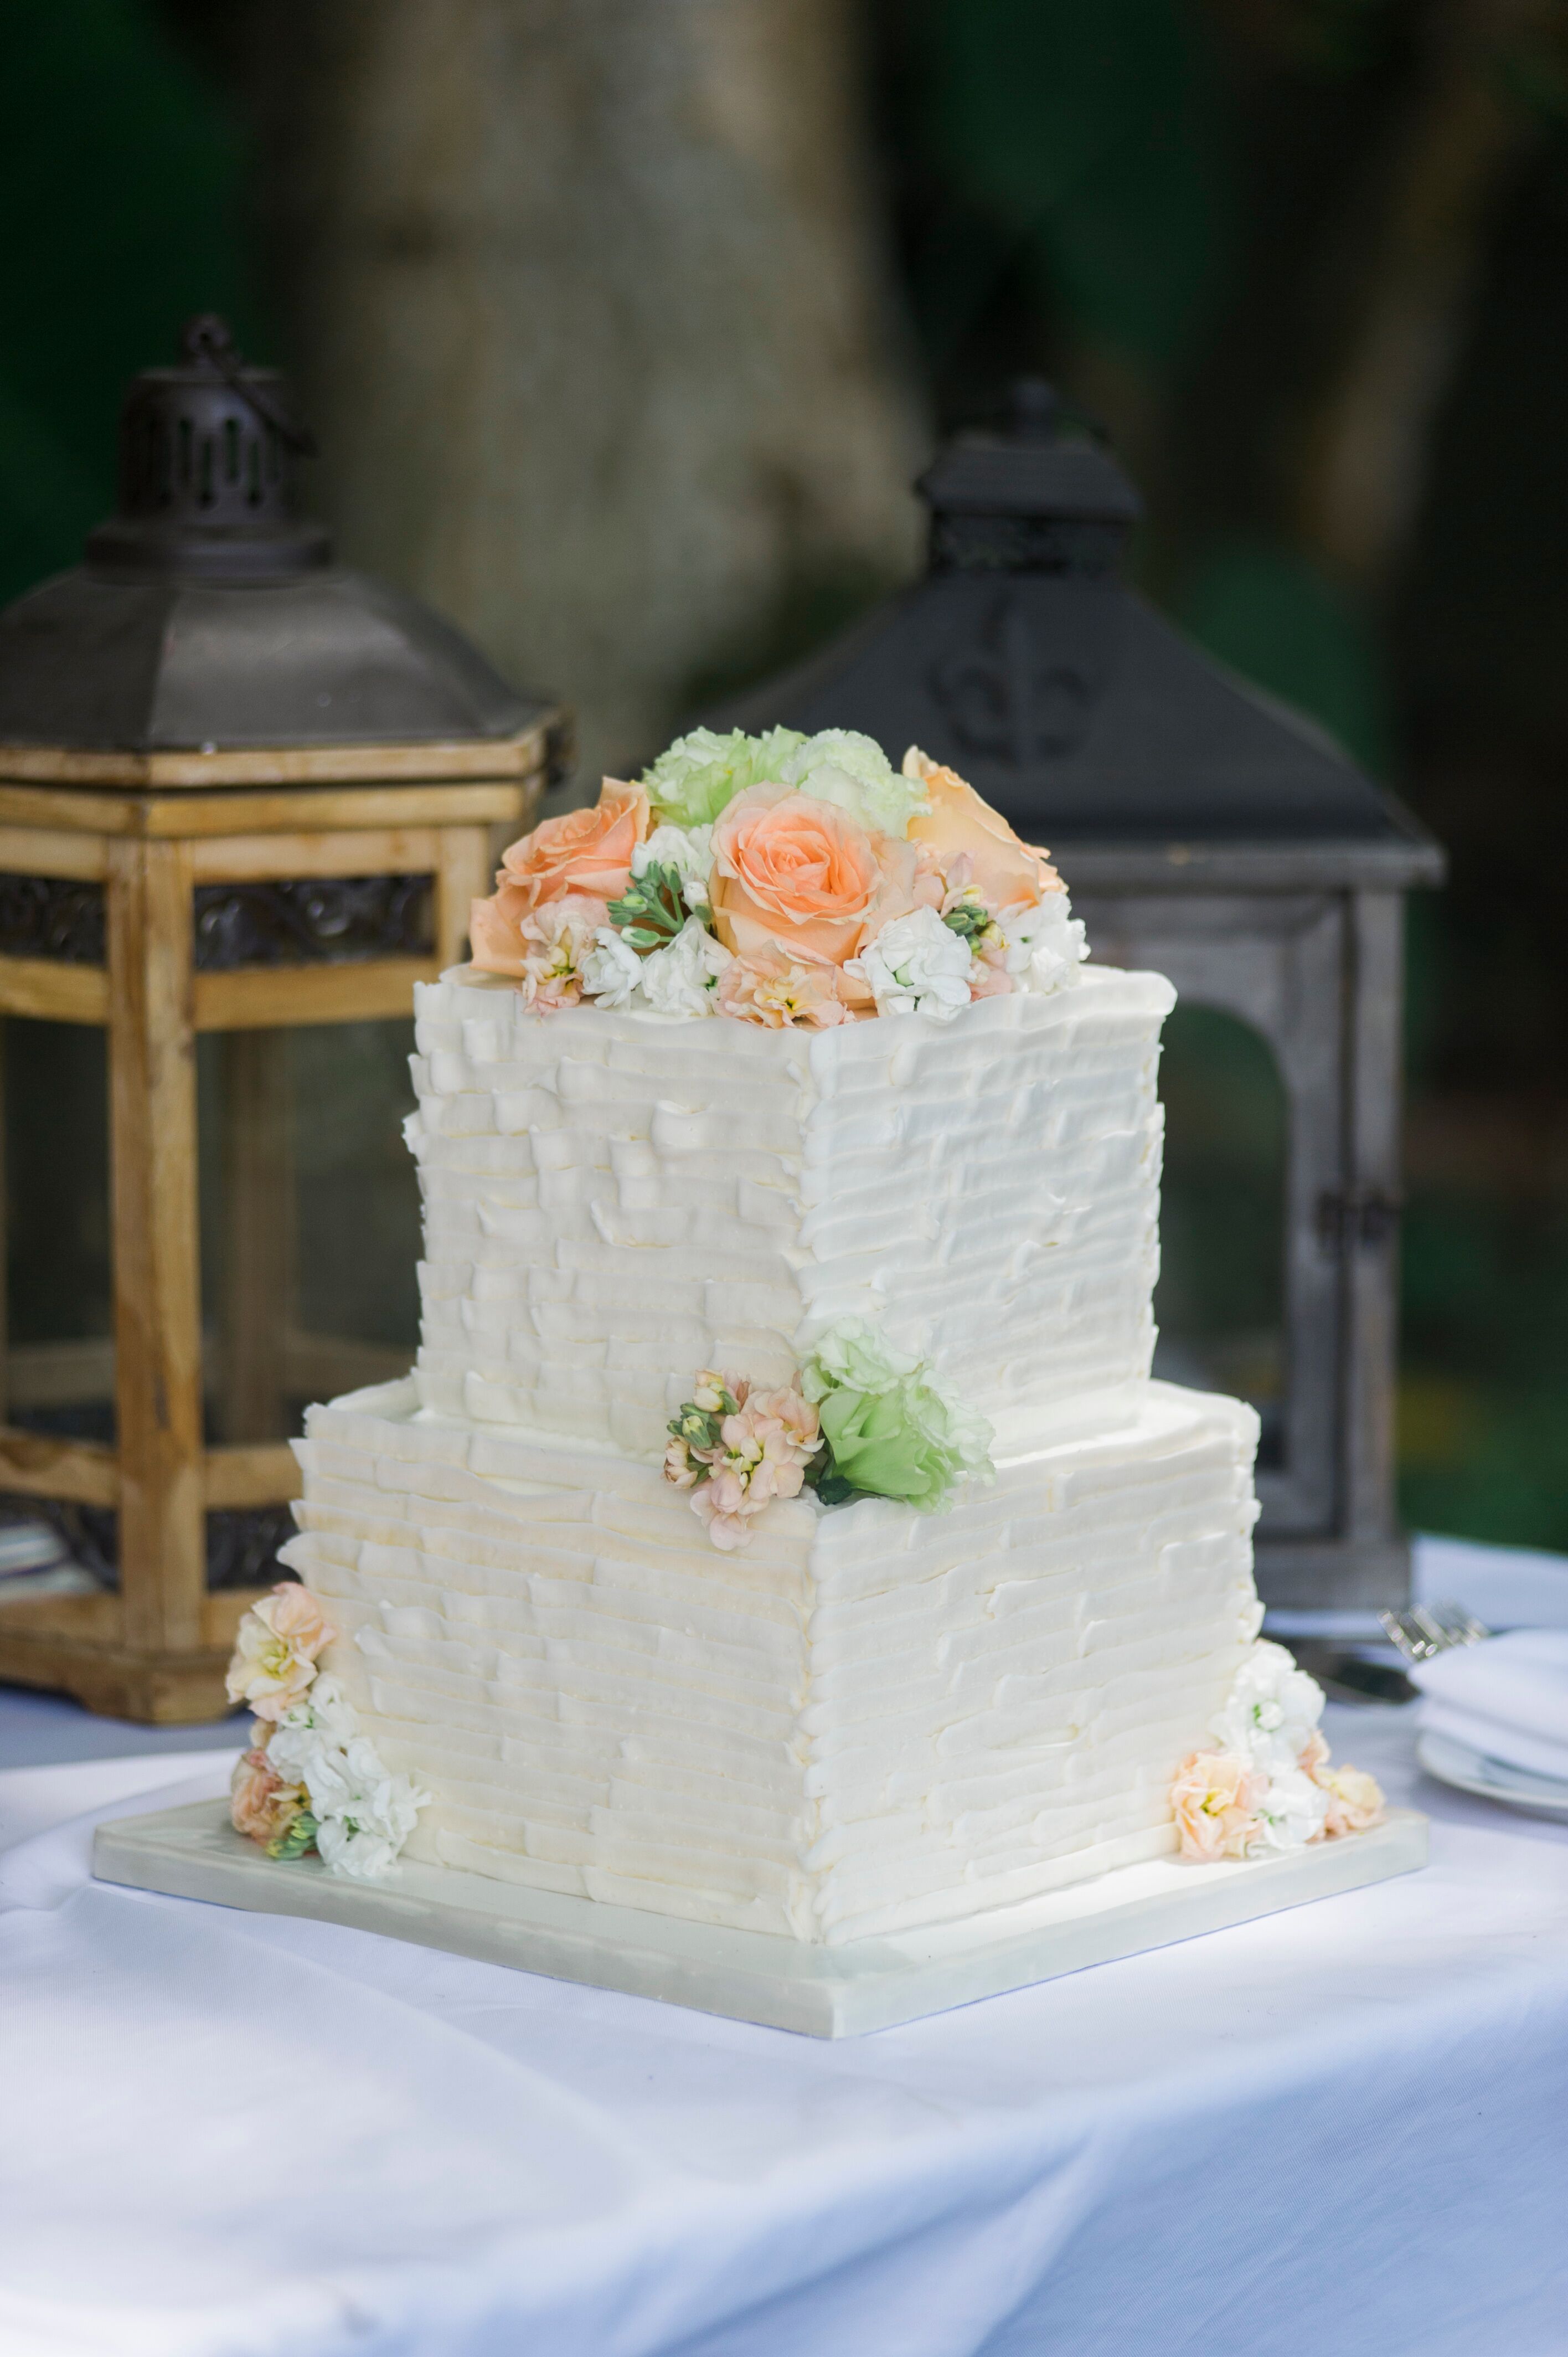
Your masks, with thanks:
<instances>
[{"instance_id":1,"label":"white tablecloth draped over the table under the cake board","mask_svg":"<svg viewBox=\"0 0 1568 2357\"><path fill-rule=\"evenodd\" d=\"M1408 1714L1330 1721L1431 1810L1424 1874L837 2046L97 1886L85 1820L38 1831L0 2348L1561 2357L1568 1829L1422 1780ZM193 1765L21 1770L12 1820Z\"/></svg>"}]
</instances>

